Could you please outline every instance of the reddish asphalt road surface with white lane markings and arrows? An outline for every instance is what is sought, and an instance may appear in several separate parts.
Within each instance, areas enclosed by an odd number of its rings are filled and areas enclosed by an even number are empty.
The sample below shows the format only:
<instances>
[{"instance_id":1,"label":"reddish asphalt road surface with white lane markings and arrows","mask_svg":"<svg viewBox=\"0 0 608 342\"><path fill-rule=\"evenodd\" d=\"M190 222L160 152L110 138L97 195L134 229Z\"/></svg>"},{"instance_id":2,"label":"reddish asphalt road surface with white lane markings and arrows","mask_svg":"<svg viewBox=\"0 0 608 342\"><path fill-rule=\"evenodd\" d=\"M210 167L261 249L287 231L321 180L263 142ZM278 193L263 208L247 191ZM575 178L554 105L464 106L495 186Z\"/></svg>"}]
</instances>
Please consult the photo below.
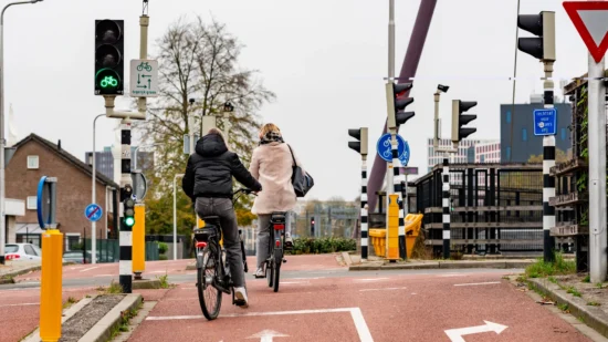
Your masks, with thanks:
<instances>
[{"instance_id":1,"label":"reddish asphalt road surface with white lane markings and arrows","mask_svg":"<svg viewBox=\"0 0 608 342\"><path fill-rule=\"evenodd\" d=\"M214 321L201 314L190 260L148 263L145 278L166 273L177 287L134 291L157 304L129 341L589 341L503 279L522 270L349 272L332 255L287 259L277 293L249 273L250 308L224 296ZM64 267L63 299L95 293L117 273L117 265ZM0 286L2 327L10 327L0 342L38 325L39 278L32 272Z\"/></svg>"}]
</instances>

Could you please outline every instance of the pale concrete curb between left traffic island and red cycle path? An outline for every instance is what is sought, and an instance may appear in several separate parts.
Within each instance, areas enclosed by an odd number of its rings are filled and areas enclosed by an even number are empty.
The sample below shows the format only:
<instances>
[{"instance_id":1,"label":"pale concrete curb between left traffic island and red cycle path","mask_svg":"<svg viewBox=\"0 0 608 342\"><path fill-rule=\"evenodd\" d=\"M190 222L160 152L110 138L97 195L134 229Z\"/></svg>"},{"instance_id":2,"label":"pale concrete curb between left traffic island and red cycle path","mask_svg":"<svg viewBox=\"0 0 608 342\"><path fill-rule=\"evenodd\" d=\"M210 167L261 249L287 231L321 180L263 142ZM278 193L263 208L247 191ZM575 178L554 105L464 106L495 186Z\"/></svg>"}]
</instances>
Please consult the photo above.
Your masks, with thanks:
<instances>
[{"instance_id":1,"label":"pale concrete curb between left traffic island and red cycle path","mask_svg":"<svg viewBox=\"0 0 608 342\"><path fill-rule=\"evenodd\" d=\"M141 304L141 294L127 294L114 309L109 310L91 330L80 340L83 342L105 342L109 340L112 331L120 324L123 312L133 310Z\"/></svg>"}]
</instances>

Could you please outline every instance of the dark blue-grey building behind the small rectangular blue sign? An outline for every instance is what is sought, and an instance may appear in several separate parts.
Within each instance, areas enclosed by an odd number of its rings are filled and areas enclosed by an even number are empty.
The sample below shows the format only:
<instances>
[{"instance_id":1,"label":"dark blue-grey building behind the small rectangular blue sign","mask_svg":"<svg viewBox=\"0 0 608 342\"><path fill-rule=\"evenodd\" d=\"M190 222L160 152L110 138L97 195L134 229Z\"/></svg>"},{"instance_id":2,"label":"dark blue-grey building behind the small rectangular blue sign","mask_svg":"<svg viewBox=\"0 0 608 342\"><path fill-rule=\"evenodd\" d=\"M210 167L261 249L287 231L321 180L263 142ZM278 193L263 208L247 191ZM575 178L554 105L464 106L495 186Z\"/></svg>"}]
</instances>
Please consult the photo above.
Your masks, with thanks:
<instances>
[{"instance_id":1,"label":"dark blue-grey building behind the small rectangular blue sign","mask_svg":"<svg viewBox=\"0 0 608 342\"><path fill-rule=\"evenodd\" d=\"M557 97L556 97L557 99ZM557 99L558 100L558 99ZM567 153L570 148L572 104L556 103L557 131L555 146ZM532 95L530 104L501 104L501 162L526 163L543 153L543 137L534 135L534 110L543 110L543 99Z\"/></svg>"}]
</instances>

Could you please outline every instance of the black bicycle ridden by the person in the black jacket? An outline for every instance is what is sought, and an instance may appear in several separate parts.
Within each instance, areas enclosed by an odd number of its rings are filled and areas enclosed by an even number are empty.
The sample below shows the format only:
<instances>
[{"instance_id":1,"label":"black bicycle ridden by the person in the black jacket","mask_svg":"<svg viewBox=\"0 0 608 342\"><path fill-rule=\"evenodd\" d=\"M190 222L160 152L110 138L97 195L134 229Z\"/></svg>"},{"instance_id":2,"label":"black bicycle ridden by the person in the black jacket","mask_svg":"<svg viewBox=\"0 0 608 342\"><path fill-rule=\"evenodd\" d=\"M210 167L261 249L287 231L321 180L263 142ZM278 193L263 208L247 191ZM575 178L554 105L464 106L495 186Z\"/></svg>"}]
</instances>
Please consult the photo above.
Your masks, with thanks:
<instances>
[{"instance_id":1,"label":"black bicycle ridden by the person in the black jacket","mask_svg":"<svg viewBox=\"0 0 608 342\"><path fill-rule=\"evenodd\" d=\"M249 189L239 189L238 194L251 194ZM232 199L234 204L240 196ZM220 313L222 304L222 292L232 294L232 304L242 305L244 302L237 300L234 288L230 277L230 266L226 259L226 249L220 245L222 240L222 229L220 218L217 216L201 217L205 227L195 229L196 258L197 258L197 289L199 303L202 314L208 320L214 320ZM247 273L247 257L242 230L239 229L239 240L241 243L241 253L243 256L243 266ZM243 279L244 281L244 279ZM247 283L243 283L247 290Z\"/></svg>"}]
</instances>

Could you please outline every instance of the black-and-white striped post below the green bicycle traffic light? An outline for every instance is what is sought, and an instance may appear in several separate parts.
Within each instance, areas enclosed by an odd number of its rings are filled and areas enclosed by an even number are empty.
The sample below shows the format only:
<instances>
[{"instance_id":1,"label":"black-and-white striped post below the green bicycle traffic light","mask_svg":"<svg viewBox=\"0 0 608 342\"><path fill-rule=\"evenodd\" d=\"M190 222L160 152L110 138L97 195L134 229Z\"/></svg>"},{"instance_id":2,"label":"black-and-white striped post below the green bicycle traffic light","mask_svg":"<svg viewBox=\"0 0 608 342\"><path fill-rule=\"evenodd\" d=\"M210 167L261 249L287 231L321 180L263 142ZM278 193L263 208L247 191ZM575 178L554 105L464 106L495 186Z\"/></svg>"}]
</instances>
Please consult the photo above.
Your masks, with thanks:
<instances>
[{"instance_id":1,"label":"black-and-white striped post below the green bicycle traffic light","mask_svg":"<svg viewBox=\"0 0 608 342\"><path fill-rule=\"evenodd\" d=\"M132 227L125 224L124 203L130 194L126 188L133 188L130 178L130 122L123 120L120 122L120 206L119 222L120 232L118 235L118 245L120 248L119 260L119 282L123 293L132 293L133 283L133 236ZM95 257L95 256L93 256Z\"/></svg>"}]
</instances>

